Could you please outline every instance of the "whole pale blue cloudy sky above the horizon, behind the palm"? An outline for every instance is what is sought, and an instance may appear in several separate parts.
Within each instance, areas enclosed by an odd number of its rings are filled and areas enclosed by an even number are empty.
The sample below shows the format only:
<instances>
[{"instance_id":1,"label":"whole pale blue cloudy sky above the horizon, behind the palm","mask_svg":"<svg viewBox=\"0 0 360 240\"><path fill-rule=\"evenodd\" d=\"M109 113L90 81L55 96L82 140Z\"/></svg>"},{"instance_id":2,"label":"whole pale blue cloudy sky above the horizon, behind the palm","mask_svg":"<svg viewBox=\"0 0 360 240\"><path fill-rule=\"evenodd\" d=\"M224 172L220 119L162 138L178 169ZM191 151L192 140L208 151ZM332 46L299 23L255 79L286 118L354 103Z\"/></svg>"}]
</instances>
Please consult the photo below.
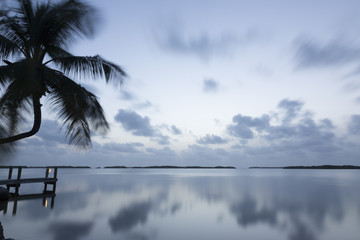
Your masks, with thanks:
<instances>
[{"instance_id":1,"label":"whole pale blue cloudy sky above the horizon, behind the palm","mask_svg":"<svg viewBox=\"0 0 360 240\"><path fill-rule=\"evenodd\" d=\"M360 165L359 1L90 3L97 34L70 51L128 74L120 87L78 79L109 132L69 146L42 99L40 132L1 164Z\"/></svg>"}]
</instances>

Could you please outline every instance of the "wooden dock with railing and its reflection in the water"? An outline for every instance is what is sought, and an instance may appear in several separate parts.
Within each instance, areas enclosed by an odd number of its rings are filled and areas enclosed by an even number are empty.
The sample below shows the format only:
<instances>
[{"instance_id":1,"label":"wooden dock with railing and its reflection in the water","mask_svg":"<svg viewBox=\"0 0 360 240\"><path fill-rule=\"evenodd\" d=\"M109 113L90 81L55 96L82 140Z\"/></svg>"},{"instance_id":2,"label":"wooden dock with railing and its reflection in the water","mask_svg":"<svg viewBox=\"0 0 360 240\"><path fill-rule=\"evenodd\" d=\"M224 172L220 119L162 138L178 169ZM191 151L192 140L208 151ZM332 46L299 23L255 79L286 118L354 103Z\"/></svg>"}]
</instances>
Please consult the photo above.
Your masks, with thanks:
<instances>
[{"instance_id":1,"label":"wooden dock with railing and its reflection in the water","mask_svg":"<svg viewBox=\"0 0 360 240\"><path fill-rule=\"evenodd\" d=\"M13 178L13 170L17 169L16 178ZM6 202L2 202L0 208L4 211L4 214L7 212L8 202L14 202L13 204L13 214L16 214L17 210L17 202L22 200L29 199L38 199L42 198L43 206L47 207L47 198L51 198L51 208L54 207L55 200L55 191L56 191L56 182L57 182L57 168L46 168L45 169L45 177L43 178L21 178L23 171L23 167L9 167L9 175L8 179L0 180L0 185L6 185L7 190L10 193L10 199ZM50 172L53 171L53 176L50 177ZM29 183L43 183L44 190L42 193L34 193L34 194L19 194L21 184L29 184ZM52 185L52 189L48 190L48 185ZM14 188L14 192L11 192L11 189Z\"/></svg>"}]
</instances>

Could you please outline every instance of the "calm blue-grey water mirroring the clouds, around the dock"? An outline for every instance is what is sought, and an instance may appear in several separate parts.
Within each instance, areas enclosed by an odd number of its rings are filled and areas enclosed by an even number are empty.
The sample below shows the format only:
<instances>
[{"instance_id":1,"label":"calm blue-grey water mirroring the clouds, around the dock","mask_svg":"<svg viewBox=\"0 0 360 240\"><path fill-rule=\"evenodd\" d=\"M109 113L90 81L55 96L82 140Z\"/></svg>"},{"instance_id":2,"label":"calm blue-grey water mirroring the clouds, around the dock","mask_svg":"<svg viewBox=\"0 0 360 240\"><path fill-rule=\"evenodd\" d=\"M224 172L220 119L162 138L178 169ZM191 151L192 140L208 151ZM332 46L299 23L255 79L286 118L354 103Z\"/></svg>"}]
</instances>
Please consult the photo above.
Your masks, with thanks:
<instances>
[{"instance_id":1,"label":"calm blue-grey water mirroring the clouds, around the dock","mask_svg":"<svg viewBox=\"0 0 360 240\"><path fill-rule=\"evenodd\" d=\"M43 176L43 169L23 175ZM1 179L7 172L0 169ZM60 169L51 208L7 204L13 239L338 240L360 236L358 170ZM21 194L42 184L22 185Z\"/></svg>"}]
</instances>

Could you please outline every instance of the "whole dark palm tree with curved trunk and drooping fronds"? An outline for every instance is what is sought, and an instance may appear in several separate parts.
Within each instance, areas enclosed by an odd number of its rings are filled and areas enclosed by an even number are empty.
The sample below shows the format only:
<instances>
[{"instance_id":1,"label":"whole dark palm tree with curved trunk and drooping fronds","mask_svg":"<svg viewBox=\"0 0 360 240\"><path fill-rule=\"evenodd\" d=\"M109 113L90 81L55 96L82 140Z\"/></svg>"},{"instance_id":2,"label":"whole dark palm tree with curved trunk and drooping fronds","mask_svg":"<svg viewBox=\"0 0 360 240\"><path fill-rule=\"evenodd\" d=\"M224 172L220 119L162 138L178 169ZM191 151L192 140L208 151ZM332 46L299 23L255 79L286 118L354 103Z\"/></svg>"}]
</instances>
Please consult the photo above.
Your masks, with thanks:
<instances>
[{"instance_id":1,"label":"whole dark palm tree with curved trunk and drooping fronds","mask_svg":"<svg viewBox=\"0 0 360 240\"><path fill-rule=\"evenodd\" d=\"M70 144L88 147L90 129L109 128L97 97L72 78L102 78L121 84L125 72L98 55L80 57L66 51L79 37L93 35L95 16L95 9L81 0L37 4L17 0L15 7L1 15L0 146L39 131L40 100L45 96L65 127ZM32 129L19 133L24 113L30 109Z\"/></svg>"}]
</instances>

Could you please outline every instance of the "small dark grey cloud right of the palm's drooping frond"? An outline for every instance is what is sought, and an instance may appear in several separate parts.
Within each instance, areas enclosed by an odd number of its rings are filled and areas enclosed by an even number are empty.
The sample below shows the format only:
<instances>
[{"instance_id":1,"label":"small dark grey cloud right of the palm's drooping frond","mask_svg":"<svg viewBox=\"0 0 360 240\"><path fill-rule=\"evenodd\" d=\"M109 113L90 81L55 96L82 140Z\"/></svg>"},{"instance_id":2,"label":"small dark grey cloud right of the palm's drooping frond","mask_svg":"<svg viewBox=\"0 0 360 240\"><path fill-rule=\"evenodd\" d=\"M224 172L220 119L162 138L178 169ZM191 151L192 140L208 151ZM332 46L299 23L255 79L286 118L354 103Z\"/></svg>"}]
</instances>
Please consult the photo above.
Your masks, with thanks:
<instances>
[{"instance_id":1,"label":"small dark grey cloud right of the palm's drooping frond","mask_svg":"<svg viewBox=\"0 0 360 240\"><path fill-rule=\"evenodd\" d=\"M115 120L136 136L154 137L156 130L150 124L150 118L142 117L134 111L120 109Z\"/></svg>"}]
</instances>

